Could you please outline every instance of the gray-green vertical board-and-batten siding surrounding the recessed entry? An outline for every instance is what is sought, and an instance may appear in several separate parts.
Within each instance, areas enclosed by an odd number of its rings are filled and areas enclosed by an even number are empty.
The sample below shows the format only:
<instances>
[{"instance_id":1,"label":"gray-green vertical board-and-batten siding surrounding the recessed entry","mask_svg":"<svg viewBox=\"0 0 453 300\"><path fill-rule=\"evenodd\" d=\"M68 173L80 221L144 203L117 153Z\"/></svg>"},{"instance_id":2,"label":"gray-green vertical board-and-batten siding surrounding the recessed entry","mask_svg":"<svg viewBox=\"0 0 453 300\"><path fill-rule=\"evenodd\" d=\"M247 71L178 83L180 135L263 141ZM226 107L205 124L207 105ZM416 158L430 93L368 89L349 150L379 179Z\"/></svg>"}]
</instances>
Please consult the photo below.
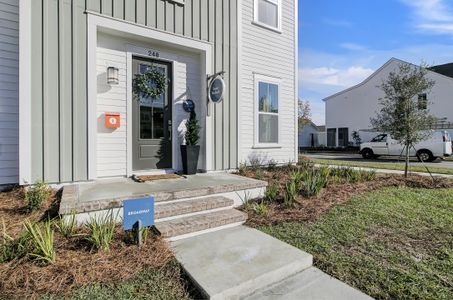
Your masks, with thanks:
<instances>
[{"instance_id":1,"label":"gray-green vertical board-and-batten siding surrounding the recessed entry","mask_svg":"<svg viewBox=\"0 0 453 300\"><path fill-rule=\"evenodd\" d=\"M0 0L0 10L10 3L15 1ZM236 0L186 0L185 5L164 0L33 0L31 3L33 181L88 179L86 11L214 43L214 66L216 71L226 71L229 86L227 98L213 110L216 147L212 163L215 169L237 166ZM11 17L11 12L0 14L0 20L2 16ZM17 44L8 42L10 33L17 32L17 25L16 29L4 30L8 35L0 35L0 65L5 65L4 70L17 77L17 68L2 56L12 55L13 59L17 56ZM1 73L0 80L11 81L11 78ZM5 93L11 95L9 91ZM0 103L2 116L12 113L11 108L6 110ZM4 130L11 134L14 129ZM17 181L17 172L14 176Z\"/></svg>"}]
</instances>

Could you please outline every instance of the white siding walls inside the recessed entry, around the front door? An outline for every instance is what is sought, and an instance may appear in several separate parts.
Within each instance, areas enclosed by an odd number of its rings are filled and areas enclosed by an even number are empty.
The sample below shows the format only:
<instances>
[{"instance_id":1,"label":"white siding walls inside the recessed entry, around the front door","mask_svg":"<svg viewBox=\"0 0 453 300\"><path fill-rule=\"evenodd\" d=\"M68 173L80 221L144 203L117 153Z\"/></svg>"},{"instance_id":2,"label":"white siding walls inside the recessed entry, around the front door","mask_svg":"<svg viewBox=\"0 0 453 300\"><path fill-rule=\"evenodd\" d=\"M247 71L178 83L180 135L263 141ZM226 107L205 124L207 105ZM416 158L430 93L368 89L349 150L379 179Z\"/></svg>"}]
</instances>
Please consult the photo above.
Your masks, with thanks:
<instances>
[{"instance_id":1,"label":"white siding walls inside the recessed entry, around the front door","mask_svg":"<svg viewBox=\"0 0 453 300\"><path fill-rule=\"evenodd\" d=\"M204 120L204 112L200 102L201 97L201 61L200 56L183 49L168 49L157 45L147 45L141 41L128 40L113 35L98 33L96 52L97 61L97 177L122 177L128 171L127 145L127 65L128 52L131 54L143 49L154 49L160 52L162 58L172 61L173 74L173 158L175 169L182 169L180 143L184 122L188 114L183 110L184 100L191 98L195 101L197 115ZM107 84L107 67L119 69L119 84ZM121 126L108 129L104 125L106 112L120 113ZM200 132L200 145L205 144L204 123ZM200 152L199 168L204 168L205 150ZM132 163L132 162L130 162Z\"/></svg>"}]
</instances>

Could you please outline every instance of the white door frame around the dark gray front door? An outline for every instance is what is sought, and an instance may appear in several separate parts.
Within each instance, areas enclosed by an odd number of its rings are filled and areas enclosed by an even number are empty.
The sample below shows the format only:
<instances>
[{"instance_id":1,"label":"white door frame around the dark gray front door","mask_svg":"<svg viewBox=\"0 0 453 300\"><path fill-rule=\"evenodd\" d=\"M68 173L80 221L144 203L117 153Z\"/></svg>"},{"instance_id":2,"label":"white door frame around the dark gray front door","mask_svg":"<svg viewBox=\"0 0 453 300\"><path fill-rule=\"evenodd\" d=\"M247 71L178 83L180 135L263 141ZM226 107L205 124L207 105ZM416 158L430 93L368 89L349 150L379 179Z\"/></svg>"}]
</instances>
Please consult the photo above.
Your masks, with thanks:
<instances>
[{"instance_id":1,"label":"white door frame around the dark gray front door","mask_svg":"<svg viewBox=\"0 0 453 300\"><path fill-rule=\"evenodd\" d=\"M153 48L153 50L156 47ZM175 63L175 58L171 57L171 54L165 53L165 51L160 51L162 54L159 58L154 58L150 57L147 55L149 49L151 48L143 48L135 45L127 45L127 75L126 75L126 88L127 88L127 97L126 97L126 102L127 102L127 115L128 118L126 118L126 124L127 124L127 177L130 177L134 174L166 174L166 173L174 173L177 171L177 166L176 166L176 142L177 142L177 136L175 136L175 107L174 107L174 100L175 100L175 86L176 86L176 63ZM159 49L157 49L159 50ZM156 60L156 61L161 61L164 63L168 63L171 66L171 73L172 73L172 84L171 84L171 97L169 98L169 105L171 105L171 168L170 169L150 169L150 170L140 170L140 171L134 171L133 169L133 159L134 159L134 153L133 153L133 143L134 143L134 137L133 137L133 126L134 126L134 120L132 118L132 101L133 101L133 91L132 91L132 80L134 77L134 70L132 67L132 60L133 58L143 58L145 60ZM175 138L176 137L176 138Z\"/></svg>"}]
</instances>

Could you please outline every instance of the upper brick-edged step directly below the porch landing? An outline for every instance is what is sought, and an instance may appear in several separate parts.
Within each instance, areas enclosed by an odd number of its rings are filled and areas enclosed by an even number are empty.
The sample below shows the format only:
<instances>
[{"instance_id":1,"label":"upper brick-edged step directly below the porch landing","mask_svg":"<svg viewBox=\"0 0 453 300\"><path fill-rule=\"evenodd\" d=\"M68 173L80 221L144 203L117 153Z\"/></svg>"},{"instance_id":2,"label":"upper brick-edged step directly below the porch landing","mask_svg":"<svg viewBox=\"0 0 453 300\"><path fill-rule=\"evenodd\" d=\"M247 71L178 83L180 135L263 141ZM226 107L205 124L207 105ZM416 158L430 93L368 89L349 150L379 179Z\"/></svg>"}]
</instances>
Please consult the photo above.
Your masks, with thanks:
<instances>
[{"instance_id":1,"label":"upper brick-edged step directly below the porch landing","mask_svg":"<svg viewBox=\"0 0 453 300\"><path fill-rule=\"evenodd\" d=\"M233 204L234 200L223 196L194 198L171 203L157 203L154 209L154 217L159 221L167 221L182 215L196 214L207 210L232 208Z\"/></svg>"}]
</instances>

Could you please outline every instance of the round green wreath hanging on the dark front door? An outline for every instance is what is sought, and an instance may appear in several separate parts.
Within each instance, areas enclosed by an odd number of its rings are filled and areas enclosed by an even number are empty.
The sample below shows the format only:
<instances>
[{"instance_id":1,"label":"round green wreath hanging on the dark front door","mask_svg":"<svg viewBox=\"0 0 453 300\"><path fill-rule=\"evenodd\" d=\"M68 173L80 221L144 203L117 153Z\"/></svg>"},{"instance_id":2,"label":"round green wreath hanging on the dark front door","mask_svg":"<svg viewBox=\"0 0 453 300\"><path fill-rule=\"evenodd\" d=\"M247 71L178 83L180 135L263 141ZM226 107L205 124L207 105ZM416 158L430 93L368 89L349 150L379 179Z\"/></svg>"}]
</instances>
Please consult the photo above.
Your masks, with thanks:
<instances>
[{"instance_id":1,"label":"round green wreath hanging on the dark front door","mask_svg":"<svg viewBox=\"0 0 453 300\"><path fill-rule=\"evenodd\" d=\"M150 86L149 82L153 84ZM145 73L135 74L134 92L144 98L158 98L167 88L167 77L159 72L156 67L149 68Z\"/></svg>"}]
</instances>

